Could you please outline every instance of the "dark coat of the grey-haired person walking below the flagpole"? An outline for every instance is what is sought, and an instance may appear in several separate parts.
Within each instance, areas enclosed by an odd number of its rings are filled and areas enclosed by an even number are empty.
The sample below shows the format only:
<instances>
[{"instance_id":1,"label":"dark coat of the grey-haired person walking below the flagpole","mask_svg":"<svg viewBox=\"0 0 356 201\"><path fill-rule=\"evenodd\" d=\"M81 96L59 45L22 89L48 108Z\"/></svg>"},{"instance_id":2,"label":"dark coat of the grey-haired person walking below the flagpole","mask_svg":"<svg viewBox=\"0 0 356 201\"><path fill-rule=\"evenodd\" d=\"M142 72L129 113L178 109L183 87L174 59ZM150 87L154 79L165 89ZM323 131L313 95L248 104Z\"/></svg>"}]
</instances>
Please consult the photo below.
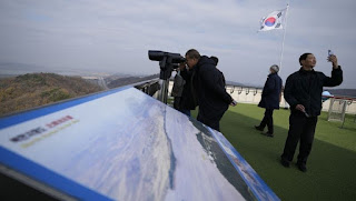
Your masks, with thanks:
<instances>
[{"instance_id":1,"label":"dark coat of the grey-haired person walking below the flagpole","mask_svg":"<svg viewBox=\"0 0 356 201\"><path fill-rule=\"evenodd\" d=\"M258 107L266 109L279 109L280 90L280 77L277 73L268 74Z\"/></svg>"}]
</instances>

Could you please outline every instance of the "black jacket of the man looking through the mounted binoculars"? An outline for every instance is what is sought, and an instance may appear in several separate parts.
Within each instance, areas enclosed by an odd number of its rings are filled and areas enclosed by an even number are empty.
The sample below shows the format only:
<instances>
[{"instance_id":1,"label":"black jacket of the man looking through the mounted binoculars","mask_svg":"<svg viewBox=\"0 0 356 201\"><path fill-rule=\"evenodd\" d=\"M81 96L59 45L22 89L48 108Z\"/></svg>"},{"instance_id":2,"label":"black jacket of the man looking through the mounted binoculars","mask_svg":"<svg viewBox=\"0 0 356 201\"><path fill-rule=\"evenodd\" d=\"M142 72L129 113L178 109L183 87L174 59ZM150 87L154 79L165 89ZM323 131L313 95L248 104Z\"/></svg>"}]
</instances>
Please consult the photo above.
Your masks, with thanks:
<instances>
[{"instance_id":1,"label":"black jacket of the man looking through the mounted binoculars","mask_svg":"<svg viewBox=\"0 0 356 201\"><path fill-rule=\"evenodd\" d=\"M212 59L202 56L195 67L195 86L198 94L199 115L204 119L221 118L233 98L225 90L222 73Z\"/></svg>"}]
</instances>

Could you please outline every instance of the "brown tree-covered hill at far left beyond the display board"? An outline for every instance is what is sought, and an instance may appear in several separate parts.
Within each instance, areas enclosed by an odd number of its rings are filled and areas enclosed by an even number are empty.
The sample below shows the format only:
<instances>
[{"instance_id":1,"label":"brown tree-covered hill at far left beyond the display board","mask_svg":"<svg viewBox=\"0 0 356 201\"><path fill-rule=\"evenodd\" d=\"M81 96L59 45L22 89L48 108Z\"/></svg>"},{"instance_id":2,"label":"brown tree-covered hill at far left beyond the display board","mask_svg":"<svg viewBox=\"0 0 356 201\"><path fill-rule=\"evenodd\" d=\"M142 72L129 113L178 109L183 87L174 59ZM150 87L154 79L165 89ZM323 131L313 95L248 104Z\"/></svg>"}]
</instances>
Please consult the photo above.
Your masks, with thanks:
<instances>
[{"instance_id":1,"label":"brown tree-covered hill at far left beyond the display board","mask_svg":"<svg viewBox=\"0 0 356 201\"><path fill-rule=\"evenodd\" d=\"M0 80L0 115L102 90L80 77L30 73Z\"/></svg>"}]
</instances>

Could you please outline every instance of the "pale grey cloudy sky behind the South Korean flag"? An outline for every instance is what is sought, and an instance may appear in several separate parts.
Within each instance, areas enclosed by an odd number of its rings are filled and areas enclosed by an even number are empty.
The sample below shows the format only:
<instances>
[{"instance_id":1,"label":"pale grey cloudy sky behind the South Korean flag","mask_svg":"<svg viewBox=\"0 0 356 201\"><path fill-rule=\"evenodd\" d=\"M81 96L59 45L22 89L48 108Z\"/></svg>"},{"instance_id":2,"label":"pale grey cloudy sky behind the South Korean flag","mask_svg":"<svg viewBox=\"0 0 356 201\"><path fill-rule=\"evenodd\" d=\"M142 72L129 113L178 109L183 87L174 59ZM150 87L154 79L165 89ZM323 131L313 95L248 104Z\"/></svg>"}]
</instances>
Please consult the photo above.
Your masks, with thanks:
<instances>
[{"instance_id":1,"label":"pale grey cloudy sky behind the South Korean flag","mask_svg":"<svg viewBox=\"0 0 356 201\"><path fill-rule=\"evenodd\" d=\"M154 74L148 50L219 58L226 80L264 86L271 64L285 80L312 52L330 76L333 50L344 70L339 88L356 89L355 0L290 0L285 30L258 32L260 19L287 0L1 0L0 62L47 69ZM1 71L1 69L0 69Z\"/></svg>"}]
</instances>

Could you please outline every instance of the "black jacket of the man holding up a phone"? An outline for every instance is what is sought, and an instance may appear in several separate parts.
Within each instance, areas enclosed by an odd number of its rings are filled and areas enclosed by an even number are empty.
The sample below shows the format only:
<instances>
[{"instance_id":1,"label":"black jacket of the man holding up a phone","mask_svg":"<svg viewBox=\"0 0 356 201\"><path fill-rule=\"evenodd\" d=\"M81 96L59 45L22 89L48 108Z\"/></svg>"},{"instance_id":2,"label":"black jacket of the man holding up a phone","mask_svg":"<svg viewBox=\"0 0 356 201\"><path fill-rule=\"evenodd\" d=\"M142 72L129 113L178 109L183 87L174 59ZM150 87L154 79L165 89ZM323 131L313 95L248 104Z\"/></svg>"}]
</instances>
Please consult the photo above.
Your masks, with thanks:
<instances>
[{"instance_id":1,"label":"black jacket of the man holding up a phone","mask_svg":"<svg viewBox=\"0 0 356 201\"><path fill-rule=\"evenodd\" d=\"M335 87L343 82L343 70L333 69L332 78L323 72L305 71L300 68L287 78L285 88L285 99L290 105L291 112L296 110L297 104L303 104L306 112L312 117L320 114L323 87Z\"/></svg>"}]
</instances>

